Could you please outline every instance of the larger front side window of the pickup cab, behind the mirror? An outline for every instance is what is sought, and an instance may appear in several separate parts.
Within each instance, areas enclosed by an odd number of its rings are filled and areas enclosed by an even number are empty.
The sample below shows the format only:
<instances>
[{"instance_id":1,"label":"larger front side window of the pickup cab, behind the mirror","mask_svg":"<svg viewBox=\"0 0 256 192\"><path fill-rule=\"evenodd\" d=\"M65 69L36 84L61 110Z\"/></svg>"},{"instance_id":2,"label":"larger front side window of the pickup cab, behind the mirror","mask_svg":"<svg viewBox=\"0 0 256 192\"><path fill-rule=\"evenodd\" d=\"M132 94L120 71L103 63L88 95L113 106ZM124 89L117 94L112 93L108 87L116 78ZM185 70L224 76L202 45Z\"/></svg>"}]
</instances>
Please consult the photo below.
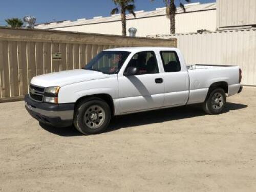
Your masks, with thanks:
<instances>
[{"instance_id":1,"label":"larger front side window of the pickup cab, behind the mirror","mask_svg":"<svg viewBox=\"0 0 256 192\"><path fill-rule=\"evenodd\" d=\"M136 75L159 73L156 55L153 51L136 53L128 63L124 73L128 67L136 67L138 69Z\"/></svg>"}]
</instances>

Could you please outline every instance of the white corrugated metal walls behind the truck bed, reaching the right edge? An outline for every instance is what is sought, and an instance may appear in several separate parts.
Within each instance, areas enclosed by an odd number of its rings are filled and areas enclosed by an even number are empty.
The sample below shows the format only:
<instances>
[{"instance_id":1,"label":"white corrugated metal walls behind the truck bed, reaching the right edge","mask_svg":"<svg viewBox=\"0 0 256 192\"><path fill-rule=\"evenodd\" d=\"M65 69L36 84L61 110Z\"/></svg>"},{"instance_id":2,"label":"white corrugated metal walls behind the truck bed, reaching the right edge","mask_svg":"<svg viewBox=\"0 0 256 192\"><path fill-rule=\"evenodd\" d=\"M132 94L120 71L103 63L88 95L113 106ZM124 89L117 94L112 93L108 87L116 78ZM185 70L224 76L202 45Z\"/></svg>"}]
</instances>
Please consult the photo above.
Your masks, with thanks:
<instances>
[{"instance_id":1,"label":"white corrugated metal walls behind the truck bed, reaching the right edge","mask_svg":"<svg viewBox=\"0 0 256 192\"><path fill-rule=\"evenodd\" d=\"M256 86L256 0L217 0L217 31L155 35L177 38L188 64L238 65L242 83Z\"/></svg>"}]
</instances>

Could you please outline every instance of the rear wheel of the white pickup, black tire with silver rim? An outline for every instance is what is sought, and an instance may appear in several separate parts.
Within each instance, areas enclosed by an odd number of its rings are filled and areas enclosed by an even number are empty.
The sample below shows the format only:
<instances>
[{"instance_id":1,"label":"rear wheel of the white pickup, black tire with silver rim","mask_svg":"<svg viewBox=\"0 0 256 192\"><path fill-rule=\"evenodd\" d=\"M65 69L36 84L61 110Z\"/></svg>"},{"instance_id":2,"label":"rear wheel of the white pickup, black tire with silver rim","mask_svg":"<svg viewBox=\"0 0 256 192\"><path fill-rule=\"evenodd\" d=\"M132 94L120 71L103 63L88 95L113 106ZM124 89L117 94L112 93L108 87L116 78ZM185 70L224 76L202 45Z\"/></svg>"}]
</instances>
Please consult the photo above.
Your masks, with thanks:
<instances>
[{"instance_id":1,"label":"rear wheel of the white pickup, black tire with silver rim","mask_svg":"<svg viewBox=\"0 0 256 192\"><path fill-rule=\"evenodd\" d=\"M211 89L203 103L205 113L220 114L226 106L226 94L222 88Z\"/></svg>"}]
</instances>

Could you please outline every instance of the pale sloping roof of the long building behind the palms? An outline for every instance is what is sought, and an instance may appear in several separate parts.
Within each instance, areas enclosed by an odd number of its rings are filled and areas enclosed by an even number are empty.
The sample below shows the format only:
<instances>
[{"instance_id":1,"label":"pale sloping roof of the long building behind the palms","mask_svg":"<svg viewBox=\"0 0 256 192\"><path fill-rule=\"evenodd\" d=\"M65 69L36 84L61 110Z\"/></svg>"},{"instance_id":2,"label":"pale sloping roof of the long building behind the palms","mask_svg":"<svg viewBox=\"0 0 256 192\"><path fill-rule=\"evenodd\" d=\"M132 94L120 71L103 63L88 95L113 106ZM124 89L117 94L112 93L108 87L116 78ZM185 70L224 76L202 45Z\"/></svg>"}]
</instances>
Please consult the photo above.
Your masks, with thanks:
<instances>
[{"instance_id":1,"label":"pale sloping roof of the long building behind the palms","mask_svg":"<svg viewBox=\"0 0 256 192\"><path fill-rule=\"evenodd\" d=\"M216 3L207 3L207 4L200 4L200 3L190 3L184 5L186 8L186 12L196 12L196 11L206 11L216 9ZM165 7L157 8L153 11L135 11L136 18L132 14L127 14L126 19L138 19L138 18L146 18L146 17L155 17L155 16L162 16L166 15ZM179 7L177 8L177 14L184 13L183 10ZM102 17L96 16L92 19L81 18L75 21L65 20L61 22L54 22L54 23L46 23L46 24L39 24L36 25L35 28L37 29L53 29L53 28L63 28L63 27L71 27L71 26L81 26L81 25L91 25L91 24L98 24L98 23L108 23L108 22L116 22L121 20L120 14L114 14L109 17Z\"/></svg>"}]
</instances>

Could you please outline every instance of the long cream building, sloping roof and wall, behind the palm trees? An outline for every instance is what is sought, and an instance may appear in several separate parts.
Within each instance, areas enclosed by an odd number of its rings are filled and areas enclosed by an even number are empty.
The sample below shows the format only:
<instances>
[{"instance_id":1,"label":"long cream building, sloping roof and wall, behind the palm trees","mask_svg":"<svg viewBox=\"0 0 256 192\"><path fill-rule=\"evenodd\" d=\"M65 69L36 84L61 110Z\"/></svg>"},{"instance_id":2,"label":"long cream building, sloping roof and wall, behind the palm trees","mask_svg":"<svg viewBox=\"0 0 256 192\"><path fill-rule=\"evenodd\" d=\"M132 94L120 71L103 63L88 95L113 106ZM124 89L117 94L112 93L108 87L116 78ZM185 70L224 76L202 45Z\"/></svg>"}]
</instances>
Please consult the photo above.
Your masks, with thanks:
<instances>
[{"instance_id":1,"label":"long cream building, sloping roof and wall, behind the palm trees","mask_svg":"<svg viewBox=\"0 0 256 192\"><path fill-rule=\"evenodd\" d=\"M185 4L185 7L186 13L181 8L177 10L177 33L197 32L201 29L216 30L216 3L191 3ZM169 33L170 22L166 17L165 7L147 12L136 11L136 18L131 14L127 15L127 30L131 27L137 28L137 36ZM37 25L36 28L113 35L121 35L122 32L120 14L41 24Z\"/></svg>"}]
</instances>

